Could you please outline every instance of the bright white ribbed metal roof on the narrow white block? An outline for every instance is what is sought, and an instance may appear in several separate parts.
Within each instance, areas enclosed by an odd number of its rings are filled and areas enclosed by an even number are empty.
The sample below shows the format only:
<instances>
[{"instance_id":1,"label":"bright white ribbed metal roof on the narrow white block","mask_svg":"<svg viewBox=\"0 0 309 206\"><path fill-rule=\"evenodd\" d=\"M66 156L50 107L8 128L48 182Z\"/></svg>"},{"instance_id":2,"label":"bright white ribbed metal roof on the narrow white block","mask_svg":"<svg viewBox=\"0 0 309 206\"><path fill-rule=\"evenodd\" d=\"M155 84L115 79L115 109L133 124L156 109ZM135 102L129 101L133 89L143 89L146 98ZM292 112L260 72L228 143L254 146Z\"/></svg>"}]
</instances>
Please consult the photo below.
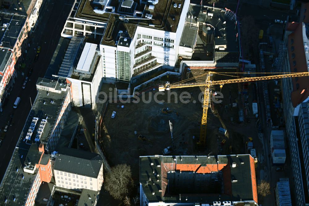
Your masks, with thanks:
<instances>
[{"instance_id":1,"label":"bright white ribbed metal roof on the narrow white block","mask_svg":"<svg viewBox=\"0 0 309 206\"><path fill-rule=\"evenodd\" d=\"M95 50L97 45L92 43L86 43L83 52L78 60L76 71L86 74L91 74L90 68L93 58L95 56Z\"/></svg>"}]
</instances>

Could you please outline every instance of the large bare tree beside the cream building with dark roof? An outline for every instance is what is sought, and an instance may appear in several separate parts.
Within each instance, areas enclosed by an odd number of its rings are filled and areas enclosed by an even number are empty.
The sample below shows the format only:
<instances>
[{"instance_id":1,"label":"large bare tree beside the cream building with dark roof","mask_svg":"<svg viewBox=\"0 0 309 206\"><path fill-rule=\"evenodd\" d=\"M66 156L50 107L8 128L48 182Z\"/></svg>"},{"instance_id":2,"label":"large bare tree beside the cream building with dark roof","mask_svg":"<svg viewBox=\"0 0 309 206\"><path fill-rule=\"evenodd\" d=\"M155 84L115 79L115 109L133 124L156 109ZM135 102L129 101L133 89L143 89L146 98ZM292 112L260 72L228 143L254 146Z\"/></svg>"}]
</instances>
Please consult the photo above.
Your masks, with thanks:
<instances>
[{"instance_id":1,"label":"large bare tree beside the cream building with dark roof","mask_svg":"<svg viewBox=\"0 0 309 206\"><path fill-rule=\"evenodd\" d=\"M116 200L122 200L133 187L131 168L129 165L116 165L104 180L105 190Z\"/></svg>"}]
</instances>

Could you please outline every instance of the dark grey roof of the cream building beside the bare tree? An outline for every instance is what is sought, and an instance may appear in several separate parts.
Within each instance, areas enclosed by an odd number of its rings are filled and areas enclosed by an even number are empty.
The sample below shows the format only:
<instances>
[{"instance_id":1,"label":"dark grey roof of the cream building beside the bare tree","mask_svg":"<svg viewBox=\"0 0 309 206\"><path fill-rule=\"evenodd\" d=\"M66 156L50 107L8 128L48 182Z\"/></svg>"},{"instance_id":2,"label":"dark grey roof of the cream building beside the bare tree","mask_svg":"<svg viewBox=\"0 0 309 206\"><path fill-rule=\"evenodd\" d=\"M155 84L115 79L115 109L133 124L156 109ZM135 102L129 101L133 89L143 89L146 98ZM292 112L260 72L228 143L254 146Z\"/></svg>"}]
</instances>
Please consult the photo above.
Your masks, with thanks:
<instances>
[{"instance_id":1,"label":"dark grey roof of the cream building beside the bare tree","mask_svg":"<svg viewBox=\"0 0 309 206\"><path fill-rule=\"evenodd\" d=\"M54 170L98 177L103 164L99 154L73 148L60 148L57 152Z\"/></svg>"}]
</instances>

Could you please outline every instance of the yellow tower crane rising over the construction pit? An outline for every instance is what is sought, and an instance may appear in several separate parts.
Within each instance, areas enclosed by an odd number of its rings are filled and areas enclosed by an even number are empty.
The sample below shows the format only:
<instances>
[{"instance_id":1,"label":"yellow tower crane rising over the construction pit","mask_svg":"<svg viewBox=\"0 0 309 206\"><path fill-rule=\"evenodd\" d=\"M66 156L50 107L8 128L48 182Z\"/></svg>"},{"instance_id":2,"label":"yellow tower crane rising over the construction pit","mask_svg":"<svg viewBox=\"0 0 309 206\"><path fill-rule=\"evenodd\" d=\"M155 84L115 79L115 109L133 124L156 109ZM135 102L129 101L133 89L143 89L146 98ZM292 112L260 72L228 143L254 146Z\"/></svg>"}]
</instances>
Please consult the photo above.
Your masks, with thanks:
<instances>
[{"instance_id":1,"label":"yellow tower crane rising over the construction pit","mask_svg":"<svg viewBox=\"0 0 309 206\"><path fill-rule=\"evenodd\" d=\"M280 79L280 78L288 78L288 77L309 76L309 72L296 72L296 73L285 73L285 74L281 74L281 75L260 76L260 77L243 77L243 78L236 78L236 79L211 81L210 76L212 76L213 74L216 74L216 73L217 72L207 73L207 77L206 77L205 82L183 83L184 81L189 80L189 79L186 79L186 80L180 81L180 82L175 83L175 84L170 84L169 82L166 82L165 85L159 85L159 91L176 89L176 88L205 86L200 141L197 143L197 144L200 144L201 146L205 146L205 144L206 144L207 111L208 111L208 107L209 107L209 89L210 89L210 86L220 85L220 88L222 88L222 86L224 84L229 84L229 83L240 83L240 82L250 82L250 81L262 81L262 80L267 80L267 79ZM218 74L220 74L220 73L218 73ZM265 73L261 73L261 74L265 74ZM191 79L193 79L193 78L191 78Z\"/></svg>"}]
</instances>

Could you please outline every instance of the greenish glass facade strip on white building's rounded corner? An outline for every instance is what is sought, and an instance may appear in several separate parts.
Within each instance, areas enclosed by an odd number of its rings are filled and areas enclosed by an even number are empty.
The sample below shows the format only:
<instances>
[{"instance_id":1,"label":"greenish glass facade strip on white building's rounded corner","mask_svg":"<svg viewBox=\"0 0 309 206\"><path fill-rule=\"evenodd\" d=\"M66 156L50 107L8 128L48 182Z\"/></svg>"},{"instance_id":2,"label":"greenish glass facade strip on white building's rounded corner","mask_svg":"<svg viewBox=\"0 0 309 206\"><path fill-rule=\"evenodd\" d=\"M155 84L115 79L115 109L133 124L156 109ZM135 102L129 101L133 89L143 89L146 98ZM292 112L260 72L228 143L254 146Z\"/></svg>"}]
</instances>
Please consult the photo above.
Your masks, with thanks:
<instances>
[{"instance_id":1,"label":"greenish glass facade strip on white building's rounded corner","mask_svg":"<svg viewBox=\"0 0 309 206\"><path fill-rule=\"evenodd\" d=\"M131 55L129 52L117 51L117 77L119 81L129 82L131 78Z\"/></svg>"}]
</instances>

